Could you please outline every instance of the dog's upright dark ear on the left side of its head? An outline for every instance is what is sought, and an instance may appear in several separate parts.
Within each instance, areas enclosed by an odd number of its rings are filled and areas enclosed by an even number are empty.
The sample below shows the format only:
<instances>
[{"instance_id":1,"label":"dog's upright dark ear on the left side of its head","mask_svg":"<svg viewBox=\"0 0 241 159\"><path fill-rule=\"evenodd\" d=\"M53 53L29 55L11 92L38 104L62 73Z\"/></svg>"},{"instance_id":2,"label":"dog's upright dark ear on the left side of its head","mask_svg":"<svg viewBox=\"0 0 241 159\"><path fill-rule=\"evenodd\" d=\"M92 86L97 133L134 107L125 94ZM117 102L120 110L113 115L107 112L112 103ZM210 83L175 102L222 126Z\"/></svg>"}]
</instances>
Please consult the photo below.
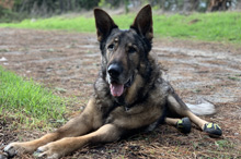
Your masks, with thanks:
<instances>
[{"instance_id":1,"label":"dog's upright dark ear on the left side of its head","mask_svg":"<svg viewBox=\"0 0 241 159\"><path fill-rule=\"evenodd\" d=\"M101 9L94 9L94 17L99 41L105 39L113 28L118 27L112 17Z\"/></svg>"}]
</instances>

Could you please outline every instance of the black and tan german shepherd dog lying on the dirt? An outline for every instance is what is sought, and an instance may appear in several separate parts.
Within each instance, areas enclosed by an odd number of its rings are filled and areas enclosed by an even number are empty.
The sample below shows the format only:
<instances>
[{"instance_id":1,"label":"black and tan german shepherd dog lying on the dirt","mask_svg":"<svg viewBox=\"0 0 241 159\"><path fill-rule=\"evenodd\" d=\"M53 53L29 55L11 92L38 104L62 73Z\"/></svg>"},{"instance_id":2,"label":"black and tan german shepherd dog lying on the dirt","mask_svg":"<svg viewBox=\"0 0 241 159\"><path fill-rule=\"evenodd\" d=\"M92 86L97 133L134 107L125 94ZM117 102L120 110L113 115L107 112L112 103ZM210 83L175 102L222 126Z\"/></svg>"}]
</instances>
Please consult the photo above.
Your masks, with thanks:
<instances>
[{"instance_id":1,"label":"black and tan german shepherd dog lying on the dirt","mask_svg":"<svg viewBox=\"0 0 241 159\"><path fill-rule=\"evenodd\" d=\"M101 9L94 9L94 16L102 66L85 109L54 133L9 144L4 148L9 156L35 151L37 157L60 158L89 144L115 142L136 130L151 131L160 122L190 133L192 121L209 135L221 135L217 124L195 115L161 77L157 58L150 52L150 5L144 7L125 30Z\"/></svg>"}]
</instances>

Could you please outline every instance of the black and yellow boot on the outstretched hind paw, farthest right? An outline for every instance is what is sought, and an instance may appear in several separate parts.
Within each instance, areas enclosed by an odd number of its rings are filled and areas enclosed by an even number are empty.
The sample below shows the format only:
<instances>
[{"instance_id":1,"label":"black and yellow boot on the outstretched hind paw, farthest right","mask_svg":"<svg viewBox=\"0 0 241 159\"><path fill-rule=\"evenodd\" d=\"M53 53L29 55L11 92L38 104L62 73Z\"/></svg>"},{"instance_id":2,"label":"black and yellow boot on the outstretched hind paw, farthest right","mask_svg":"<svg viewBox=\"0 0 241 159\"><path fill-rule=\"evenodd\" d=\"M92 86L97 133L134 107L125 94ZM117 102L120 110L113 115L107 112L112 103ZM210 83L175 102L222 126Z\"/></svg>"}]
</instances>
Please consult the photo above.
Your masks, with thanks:
<instances>
[{"instance_id":1,"label":"black and yellow boot on the outstretched hind paw, farthest right","mask_svg":"<svg viewBox=\"0 0 241 159\"><path fill-rule=\"evenodd\" d=\"M221 127L215 123L206 123L204 125L204 132L208 133L211 137L219 137L222 134Z\"/></svg>"}]
</instances>

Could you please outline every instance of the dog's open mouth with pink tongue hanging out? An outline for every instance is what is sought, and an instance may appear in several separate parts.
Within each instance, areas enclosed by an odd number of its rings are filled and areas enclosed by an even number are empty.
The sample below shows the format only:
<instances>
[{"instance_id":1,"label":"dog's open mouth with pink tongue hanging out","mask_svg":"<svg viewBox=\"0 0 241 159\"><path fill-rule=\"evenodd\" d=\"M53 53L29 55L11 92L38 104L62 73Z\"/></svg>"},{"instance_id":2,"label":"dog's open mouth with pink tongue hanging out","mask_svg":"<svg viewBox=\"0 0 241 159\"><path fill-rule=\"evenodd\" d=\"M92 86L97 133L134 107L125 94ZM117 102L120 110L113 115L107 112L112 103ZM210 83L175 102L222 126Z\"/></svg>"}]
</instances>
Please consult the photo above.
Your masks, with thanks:
<instances>
[{"instance_id":1,"label":"dog's open mouth with pink tongue hanging out","mask_svg":"<svg viewBox=\"0 0 241 159\"><path fill-rule=\"evenodd\" d=\"M127 83L125 83L125 84L118 84L118 83L116 83L116 82L112 82L112 83L110 84L110 88L111 88L111 94L112 94L112 96L114 96L114 97L119 97L119 96L122 96L123 93L124 93L124 89L125 89L126 87L130 87L131 83L133 83L133 77L130 77L130 78L127 81Z\"/></svg>"}]
</instances>

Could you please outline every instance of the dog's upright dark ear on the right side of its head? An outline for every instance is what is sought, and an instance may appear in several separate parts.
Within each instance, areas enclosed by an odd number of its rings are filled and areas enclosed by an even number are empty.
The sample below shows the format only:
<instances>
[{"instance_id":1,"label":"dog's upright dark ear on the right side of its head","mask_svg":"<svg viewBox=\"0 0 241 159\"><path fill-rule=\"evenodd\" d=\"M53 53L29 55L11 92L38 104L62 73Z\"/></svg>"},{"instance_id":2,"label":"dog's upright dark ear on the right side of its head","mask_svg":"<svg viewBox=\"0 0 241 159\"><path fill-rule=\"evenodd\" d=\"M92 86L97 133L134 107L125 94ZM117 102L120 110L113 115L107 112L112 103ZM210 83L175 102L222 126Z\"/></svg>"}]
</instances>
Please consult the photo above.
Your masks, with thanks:
<instances>
[{"instance_id":1,"label":"dog's upright dark ear on the right side of its head","mask_svg":"<svg viewBox=\"0 0 241 159\"><path fill-rule=\"evenodd\" d=\"M144 7L137 14L134 24L130 26L137 33L151 41L153 38L152 13L150 4Z\"/></svg>"}]
</instances>

